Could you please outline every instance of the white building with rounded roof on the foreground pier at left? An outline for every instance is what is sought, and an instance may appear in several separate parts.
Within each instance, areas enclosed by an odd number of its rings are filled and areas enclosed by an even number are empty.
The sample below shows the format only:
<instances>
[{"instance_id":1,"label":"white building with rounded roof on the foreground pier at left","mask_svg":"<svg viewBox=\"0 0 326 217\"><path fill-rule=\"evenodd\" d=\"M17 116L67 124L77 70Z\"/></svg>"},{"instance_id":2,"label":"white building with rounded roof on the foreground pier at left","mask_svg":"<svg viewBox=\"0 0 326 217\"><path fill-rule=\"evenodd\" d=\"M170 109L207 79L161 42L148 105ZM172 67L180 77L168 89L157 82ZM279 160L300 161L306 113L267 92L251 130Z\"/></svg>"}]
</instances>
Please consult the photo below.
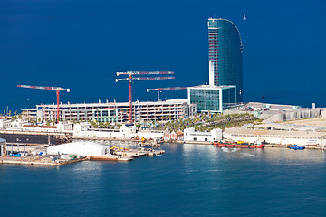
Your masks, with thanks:
<instances>
[{"instance_id":1,"label":"white building with rounded roof on the foreground pier at left","mask_svg":"<svg viewBox=\"0 0 326 217\"><path fill-rule=\"evenodd\" d=\"M85 141L49 146L46 152L49 155L113 156L109 146Z\"/></svg>"}]
</instances>

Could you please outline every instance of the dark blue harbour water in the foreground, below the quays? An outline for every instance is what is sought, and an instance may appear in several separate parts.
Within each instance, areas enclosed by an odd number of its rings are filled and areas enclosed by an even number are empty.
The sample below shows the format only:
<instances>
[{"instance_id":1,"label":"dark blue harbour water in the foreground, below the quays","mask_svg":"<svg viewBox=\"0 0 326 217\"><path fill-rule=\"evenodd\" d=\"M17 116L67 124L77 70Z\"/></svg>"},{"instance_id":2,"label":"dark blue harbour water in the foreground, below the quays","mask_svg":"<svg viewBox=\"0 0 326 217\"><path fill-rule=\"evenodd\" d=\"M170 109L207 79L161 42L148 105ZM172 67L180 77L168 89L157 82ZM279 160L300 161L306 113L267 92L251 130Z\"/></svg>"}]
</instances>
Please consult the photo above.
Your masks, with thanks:
<instances>
[{"instance_id":1,"label":"dark blue harbour water in the foreground, below the quays","mask_svg":"<svg viewBox=\"0 0 326 217\"><path fill-rule=\"evenodd\" d=\"M0 165L0 216L326 216L322 151L162 148L124 163Z\"/></svg>"}]
</instances>

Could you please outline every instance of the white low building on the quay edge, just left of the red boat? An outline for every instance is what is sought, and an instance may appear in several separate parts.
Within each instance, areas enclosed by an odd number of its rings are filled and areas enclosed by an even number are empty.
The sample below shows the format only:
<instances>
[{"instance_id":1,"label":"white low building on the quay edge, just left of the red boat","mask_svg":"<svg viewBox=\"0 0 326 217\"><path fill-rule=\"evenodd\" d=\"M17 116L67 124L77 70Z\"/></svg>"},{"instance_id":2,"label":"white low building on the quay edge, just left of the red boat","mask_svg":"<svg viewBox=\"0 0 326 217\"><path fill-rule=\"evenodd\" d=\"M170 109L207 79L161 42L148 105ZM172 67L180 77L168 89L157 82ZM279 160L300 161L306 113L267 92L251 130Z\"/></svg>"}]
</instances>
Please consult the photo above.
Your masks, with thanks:
<instances>
[{"instance_id":1,"label":"white low building on the quay edge, just left of the red boat","mask_svg":"<svg viewBox=\"0 0 326 217\"><path fill-rule=\"evenodd\" d=\"M222 129L212 129L210 132L197 132L193 127L184 130L184 141L215 142L222 139Z\"/></svg>"}]
</instances>

